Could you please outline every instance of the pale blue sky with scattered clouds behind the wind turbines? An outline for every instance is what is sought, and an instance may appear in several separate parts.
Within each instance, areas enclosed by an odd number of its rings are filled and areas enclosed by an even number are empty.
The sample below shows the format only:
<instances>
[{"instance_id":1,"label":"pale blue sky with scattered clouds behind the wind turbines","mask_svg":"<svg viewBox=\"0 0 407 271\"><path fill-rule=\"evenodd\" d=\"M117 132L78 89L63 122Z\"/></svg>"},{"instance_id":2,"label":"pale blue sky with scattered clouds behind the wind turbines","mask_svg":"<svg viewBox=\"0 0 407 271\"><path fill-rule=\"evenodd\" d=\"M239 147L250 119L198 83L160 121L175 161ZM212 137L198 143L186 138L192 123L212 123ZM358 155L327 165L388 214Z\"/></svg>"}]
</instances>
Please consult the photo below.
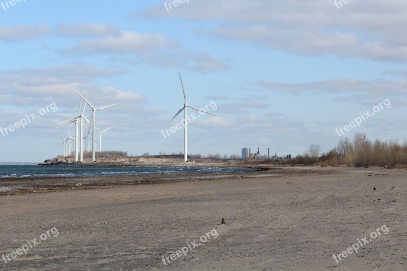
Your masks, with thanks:
<instances>
[{"instance_id":1,"label":"pale blue sky with scattered clouds behind the wind turbines","mask_svg":"<svg viewBox=\"0 0 407 271\"><path fill-rule=\"evenodd\" d=\"M188 104L218 115L188 108L188 154L329 152L356 132L404 141L407 2L180 2L1 2L0 161L64 153L72 88L95 107L124 102L96 112L96 128L115 125L103 150L179 154L178 73Z\"/></svg>"}]
</instances>

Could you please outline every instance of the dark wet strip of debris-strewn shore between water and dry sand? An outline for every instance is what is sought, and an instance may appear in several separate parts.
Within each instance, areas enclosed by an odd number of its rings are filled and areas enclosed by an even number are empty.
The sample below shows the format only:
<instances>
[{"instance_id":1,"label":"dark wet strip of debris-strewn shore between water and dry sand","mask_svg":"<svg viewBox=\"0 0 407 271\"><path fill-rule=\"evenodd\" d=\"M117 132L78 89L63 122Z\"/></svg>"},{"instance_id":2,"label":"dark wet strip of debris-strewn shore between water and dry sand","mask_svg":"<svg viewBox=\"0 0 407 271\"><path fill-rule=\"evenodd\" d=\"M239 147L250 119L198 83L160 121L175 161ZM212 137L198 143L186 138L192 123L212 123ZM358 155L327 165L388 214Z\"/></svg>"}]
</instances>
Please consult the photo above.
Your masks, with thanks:
<instances>
[{"instance_id":1,"label":"dark wet strip of debris-strewn shore between water and dry sand","mask_svg":"<svg viewBox=\"0 0 407 271\"><path fill-rule=\"evenodd\" d=\"M247 167L245 167L247 168ZM338 174L349 168L325 167L250 167L256 170L220 173L180 173L152 175L117 175L86 177L0 178L0 197L66 190L106 189L118 186L159 185L199 182L200 180L247 179L258 177L287 177L310 174Z\"/></svg>"}]
</instances>

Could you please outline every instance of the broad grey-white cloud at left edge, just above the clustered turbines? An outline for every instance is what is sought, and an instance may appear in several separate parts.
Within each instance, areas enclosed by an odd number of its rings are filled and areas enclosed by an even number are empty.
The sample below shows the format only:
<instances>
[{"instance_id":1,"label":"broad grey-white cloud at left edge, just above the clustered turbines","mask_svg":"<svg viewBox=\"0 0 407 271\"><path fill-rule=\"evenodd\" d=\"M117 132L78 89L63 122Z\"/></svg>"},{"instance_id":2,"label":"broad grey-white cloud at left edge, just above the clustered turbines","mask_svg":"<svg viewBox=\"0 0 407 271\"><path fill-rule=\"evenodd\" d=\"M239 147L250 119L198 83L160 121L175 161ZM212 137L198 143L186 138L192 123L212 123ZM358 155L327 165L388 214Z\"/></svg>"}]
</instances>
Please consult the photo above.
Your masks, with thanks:
<instances>
[{"instance_id":1,"label":"broad grey-white cloud at left edge, just above the clustered turbines","mask_svg":"<svg viewBox=\"0 0 407 271\"><path fill-rule=\"evenodd\" d=\"M1 104L15 106L42 106L52 101L73 103L77 97L68 95L71 87L79 89L98 89L92 81L98 77L109 77L125 73L125 70L103 69L83 64L70 64L49 68L24 68L0 73ZM133 94L119 93L113 89L102 89L109 100L122 101L121 98L137 100ZM109 95L107 95L109 94ZM114 95L113 95L114 94ZM133 96L132 96L133 95Z\"/></svg>"}]
</instances>

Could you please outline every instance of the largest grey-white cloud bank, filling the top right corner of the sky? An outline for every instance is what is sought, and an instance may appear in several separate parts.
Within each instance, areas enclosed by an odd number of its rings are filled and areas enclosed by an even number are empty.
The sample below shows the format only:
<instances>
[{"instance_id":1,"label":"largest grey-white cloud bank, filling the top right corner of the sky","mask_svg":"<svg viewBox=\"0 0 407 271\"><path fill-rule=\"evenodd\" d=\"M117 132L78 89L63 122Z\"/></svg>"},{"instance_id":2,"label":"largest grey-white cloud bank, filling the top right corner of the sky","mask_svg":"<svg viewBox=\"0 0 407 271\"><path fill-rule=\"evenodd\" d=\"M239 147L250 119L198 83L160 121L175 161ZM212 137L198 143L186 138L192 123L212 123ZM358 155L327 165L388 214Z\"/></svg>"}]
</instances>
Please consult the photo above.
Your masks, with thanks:
<instances>
[{"instance_id":1,"label":"largest grey-white cloud bank, filling the top right corner of the sky","mask_svg":"<svg viewBox=\"0 0 407 271\"><path fill-rule=\"evenodd\" d=\"M407 2L352 1L337 9L325 0L208 0L166 12L151 7L149 18L215 21L211 34L306 55L357 56L407 61ZM391 31L389 31L391 29Z\"/></svg>"}]
</instances>

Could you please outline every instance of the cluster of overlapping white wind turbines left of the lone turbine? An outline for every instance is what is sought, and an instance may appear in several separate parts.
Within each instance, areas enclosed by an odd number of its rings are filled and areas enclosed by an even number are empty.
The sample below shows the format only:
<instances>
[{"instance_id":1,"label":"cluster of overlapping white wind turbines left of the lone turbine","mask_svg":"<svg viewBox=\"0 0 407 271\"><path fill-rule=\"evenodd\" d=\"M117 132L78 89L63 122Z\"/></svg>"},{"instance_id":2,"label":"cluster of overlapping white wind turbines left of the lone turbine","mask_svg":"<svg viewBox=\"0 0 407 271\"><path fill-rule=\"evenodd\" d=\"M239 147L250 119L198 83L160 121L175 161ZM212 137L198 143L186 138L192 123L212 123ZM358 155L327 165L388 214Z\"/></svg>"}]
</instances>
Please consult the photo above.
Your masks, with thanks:
<instances>
[{"instance_id":1,"label":"cluster of overlapping white wind turbines left of the lone turbine","mask_svg":"<svg viewBox=\"0 0 407 271\"><path fill-rule=\"evenodd\" d=\"M73 87L72 87L72 89L80 97L78 114L76 116L74 116L74 117L68 117L66 115L58 113L59 115L67 118L67 120L64 121L64 122L59 123L58 124L59 126L57 128L69 125L71 123L75 124L75 138L72 137L71 132L69 130L69 127L68 127L69 137L67 139L65 139L64 135L61 133L62 139L63 139L62 146L64 146L64 157L67 156L68 149L69 149L69 155L71 154L71 144L73 143L73 145L74 145L74 153L75 153L74 161L75 162L78 162L78 161L83 162L83 140L85 139L86 151L88 151L87 140L89 138L89 134L91 134L92 135L92 161L96 162L96 131L99 133L99 152L102 152L102 134L114 127L114 125L113 125L112 127L107 128L107 129L104 129L105 127L102 128L101 130L97 129L96 128L96 111L97 110L103 110L103 109L106 109L106 108L109 108L111 106L118 105L118 104L121 104L121 103L111 104L111 105L102 106L102 107L94 107L92 105L92 103L90 103L88 101L88 91L86 91L86 95L85 95L85 97L83 97L79 92L76 91L76 89L74 89ZM83 103L83 109L81 111L82 100L84 101L84 103ZM88 104L92 109L91 121L89 121L89 119L86 118L85 115L84 115L86 104ZM86 126L86 124L88 124L89 127ZM80 125L80 127L79 127L79 125ZM87 130L87 135L86 136L84 136L83 127ZM92 129L92 132L91 132L91 129ZM80 140L79 140L79 130L80 130ZM67 142L68 142L68 146L67 146ZM80 152L79 152L79 145L80 145Z\"/></svg>"}]
</instances>

